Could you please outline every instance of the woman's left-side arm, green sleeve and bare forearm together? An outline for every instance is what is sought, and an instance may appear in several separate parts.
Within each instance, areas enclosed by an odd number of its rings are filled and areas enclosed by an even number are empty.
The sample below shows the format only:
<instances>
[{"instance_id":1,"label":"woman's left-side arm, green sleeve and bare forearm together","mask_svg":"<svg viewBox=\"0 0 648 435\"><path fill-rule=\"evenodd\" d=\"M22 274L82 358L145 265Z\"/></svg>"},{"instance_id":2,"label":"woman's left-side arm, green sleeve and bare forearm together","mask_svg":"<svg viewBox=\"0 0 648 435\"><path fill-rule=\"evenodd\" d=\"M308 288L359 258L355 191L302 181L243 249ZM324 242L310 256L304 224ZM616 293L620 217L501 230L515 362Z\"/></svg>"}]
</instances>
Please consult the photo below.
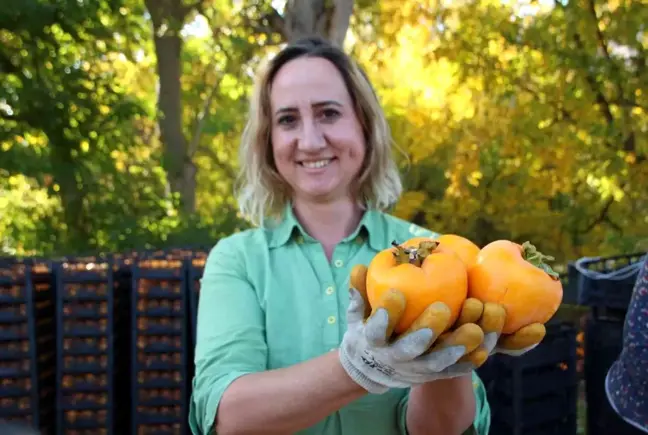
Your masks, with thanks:
<instances>
[{"instance_id":1,"label":"woman's left-side arm, green sleeve and bare forearm together","mask_svg":"<svg viewBox=\"0 0 648 435\"><path fill-rule=\"evenodd\" d=\"M201 281L189 421L195 435L294 433L366 394L337 351L267 371L265 320L240 239L212 250Z\"/></svg>"}]
</instances>

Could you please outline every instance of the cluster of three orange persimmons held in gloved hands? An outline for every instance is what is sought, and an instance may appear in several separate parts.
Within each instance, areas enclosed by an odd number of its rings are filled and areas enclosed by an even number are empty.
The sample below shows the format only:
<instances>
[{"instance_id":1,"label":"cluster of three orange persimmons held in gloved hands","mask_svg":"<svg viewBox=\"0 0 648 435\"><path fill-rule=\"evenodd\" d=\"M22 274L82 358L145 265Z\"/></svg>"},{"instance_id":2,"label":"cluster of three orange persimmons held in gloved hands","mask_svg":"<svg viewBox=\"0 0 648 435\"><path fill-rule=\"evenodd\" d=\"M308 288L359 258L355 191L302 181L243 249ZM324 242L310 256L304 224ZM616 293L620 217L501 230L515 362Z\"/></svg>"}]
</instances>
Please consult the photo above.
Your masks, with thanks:
<instances>
[{"instance_id":1,"label":"cluster of three orange persimmons held in gloved hands","mask_svg":"<svg viewBox=\"0 0 648 435\"><path fill-rule=\"evenodd\" d=\"M435 302L451 311L449 325L467 301L497 303L506 310L502 334L545 324L558 310L563 288L546 261L529 242L497 240L480 248L469 239L448 234L417 237L379 252L366 275L367 299L375 306L390 289L398 289L406 307L394 332L403 333ZM463 315L463 314L462 314Z\"/></svg>"}]
</instances>

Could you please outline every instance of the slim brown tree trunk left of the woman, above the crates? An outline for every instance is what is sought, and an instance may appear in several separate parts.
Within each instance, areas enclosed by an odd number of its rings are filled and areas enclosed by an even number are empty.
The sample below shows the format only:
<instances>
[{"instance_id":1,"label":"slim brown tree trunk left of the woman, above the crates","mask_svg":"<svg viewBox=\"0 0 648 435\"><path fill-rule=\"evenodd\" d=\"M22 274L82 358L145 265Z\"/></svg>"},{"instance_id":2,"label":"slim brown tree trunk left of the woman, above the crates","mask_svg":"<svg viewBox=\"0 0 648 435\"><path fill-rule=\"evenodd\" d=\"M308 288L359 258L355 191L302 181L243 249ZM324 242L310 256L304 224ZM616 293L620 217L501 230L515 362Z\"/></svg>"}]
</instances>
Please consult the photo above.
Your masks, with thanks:
<instances>
[{"instance_id":1,"label":"slim brown tree trunk left of the woman, above the crates","mask_svg":"<svg viewBox=\"0 0 648 435\"><path fill-rule=\"evenodd\" d=\"M153 22L157 57L158 124L164 144L164 168L169 185L180 195L182 209L196 209L196 168L189 156L182 128L182 37L180 30L190 9L182 0L146 0Z\"/></svg>"}]
</instances>

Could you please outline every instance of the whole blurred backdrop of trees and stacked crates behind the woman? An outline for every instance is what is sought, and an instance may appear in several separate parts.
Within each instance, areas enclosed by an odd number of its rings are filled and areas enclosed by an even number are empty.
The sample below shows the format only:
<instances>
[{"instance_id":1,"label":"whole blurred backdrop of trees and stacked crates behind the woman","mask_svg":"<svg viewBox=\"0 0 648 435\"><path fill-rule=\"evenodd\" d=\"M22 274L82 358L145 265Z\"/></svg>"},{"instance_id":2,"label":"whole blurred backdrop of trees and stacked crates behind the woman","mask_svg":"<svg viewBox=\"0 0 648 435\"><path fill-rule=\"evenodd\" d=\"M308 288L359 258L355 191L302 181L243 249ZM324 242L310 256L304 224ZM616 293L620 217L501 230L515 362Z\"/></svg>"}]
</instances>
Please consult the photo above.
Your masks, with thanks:
<instances>
[{"instance_id":1,"label":"whole blurred backdrop of trees and stacked crates behind the woman","mask_svg":"<svg viewBox=\"0 0 648 435\"><path fill-rule=\"evenodd\" d=\"M543 344L480 370L491 433L637 433L602 386L648 250L646 23L642 0L4 0L0 420L188 434L253 76L318 33L377 89L392 213L556 258Z\"/></svg>"}]
</instances>

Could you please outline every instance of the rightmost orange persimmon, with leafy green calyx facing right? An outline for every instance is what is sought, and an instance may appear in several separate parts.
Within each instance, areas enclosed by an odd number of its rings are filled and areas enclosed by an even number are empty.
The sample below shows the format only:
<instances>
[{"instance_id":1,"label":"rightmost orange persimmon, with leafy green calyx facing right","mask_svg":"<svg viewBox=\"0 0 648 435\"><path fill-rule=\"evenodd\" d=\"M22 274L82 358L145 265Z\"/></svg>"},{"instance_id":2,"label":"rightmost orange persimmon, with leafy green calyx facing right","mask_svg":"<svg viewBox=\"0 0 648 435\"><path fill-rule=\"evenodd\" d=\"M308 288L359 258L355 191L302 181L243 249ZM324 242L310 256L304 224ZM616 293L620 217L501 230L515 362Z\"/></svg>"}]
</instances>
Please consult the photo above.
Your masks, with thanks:
<instances>
[{"instance_id":1,"label":"rightmost orange persimmon, with leafy green calyx facing right","mask_svg":"<svg viewBox=\"0 0 648 435\"><path fill-rule=\"evenodd\" d=\"M497 240L484 246L468 269L468 297L500 303L506 309L503 334L531 323L546 323L558 310L563 288L545 260L529 242Z\"/></svg>"}]
</instances>

